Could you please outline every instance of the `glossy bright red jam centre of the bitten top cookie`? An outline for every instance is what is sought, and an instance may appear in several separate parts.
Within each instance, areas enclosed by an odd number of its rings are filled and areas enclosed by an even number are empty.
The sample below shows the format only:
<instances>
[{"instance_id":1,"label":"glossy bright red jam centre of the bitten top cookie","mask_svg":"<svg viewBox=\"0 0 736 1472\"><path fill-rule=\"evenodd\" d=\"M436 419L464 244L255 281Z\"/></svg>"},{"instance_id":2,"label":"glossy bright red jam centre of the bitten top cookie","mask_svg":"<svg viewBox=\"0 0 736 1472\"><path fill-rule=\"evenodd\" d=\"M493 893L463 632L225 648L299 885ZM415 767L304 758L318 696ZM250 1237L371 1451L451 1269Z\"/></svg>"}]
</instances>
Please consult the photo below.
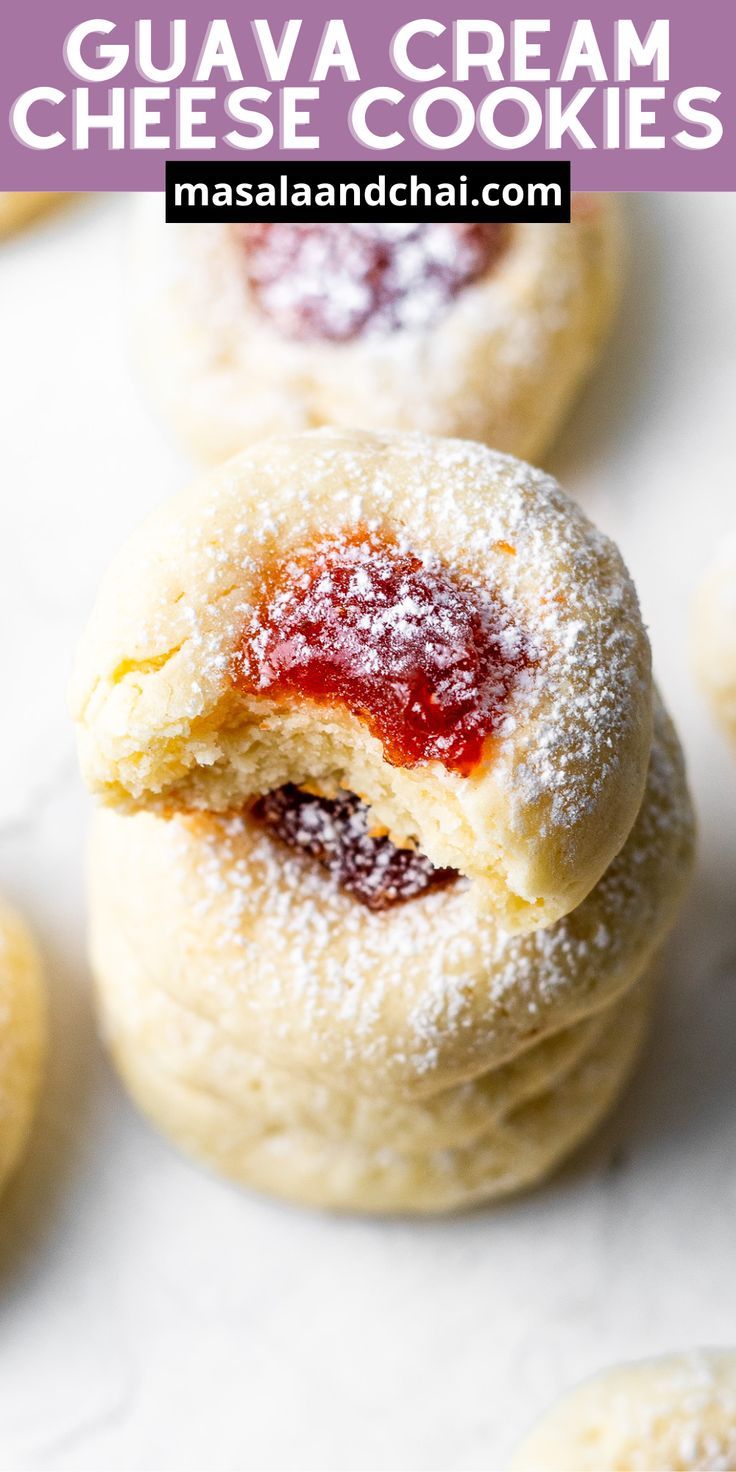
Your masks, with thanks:
<instances>
[{"instance_id":1,"label":"glossy bright red jam centre of the bitten top cookie","mask_svg":"<svg viewBox=\"0 0 736 1472\"><path fill-rule=\"evenodd\" d=\"M358 530L263 570L231 665L247 695L343 705L396 767L470 776L533 664L498 595Z\"/></svg>"}]
</instances>

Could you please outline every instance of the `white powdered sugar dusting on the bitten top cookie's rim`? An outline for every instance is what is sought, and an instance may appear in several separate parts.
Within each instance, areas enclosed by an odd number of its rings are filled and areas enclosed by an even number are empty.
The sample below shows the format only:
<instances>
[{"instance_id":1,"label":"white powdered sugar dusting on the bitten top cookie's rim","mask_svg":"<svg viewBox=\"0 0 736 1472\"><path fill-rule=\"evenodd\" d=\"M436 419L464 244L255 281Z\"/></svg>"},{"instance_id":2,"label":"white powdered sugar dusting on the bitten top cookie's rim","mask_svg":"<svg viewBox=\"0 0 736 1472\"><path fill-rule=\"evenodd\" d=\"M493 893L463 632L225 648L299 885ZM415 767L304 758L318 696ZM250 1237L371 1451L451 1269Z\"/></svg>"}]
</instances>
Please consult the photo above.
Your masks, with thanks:
<instances>
[{"instance_id":1,"label":"white powdered sugar dusting on the bitten top cookie's rim","mask_svg":"<svg viewBox=\"0 0 736 1472\"><path fill-rule=\"evenodd\" d=\"M627 732L639 724L646 704L649 668L626 568L608 539L542 471L456 440L403 436L389 439L387 447L399 453L383 471L381 458L367 456L361 440L352 449L330 431L314 436L309 456L299 464L297 496L289 478L284 493L277 461L262 490L269 509L247 517L240 540L246 587L261 586L263 559L274 549L284 542L299 548L314 537L312 508L324 481L330 483L333 524L349 533L358 526L389 527L400 546L431 559L442 527L445 564L481 596L498 596L509 609L511 627L518 629L521 617L530 645L540 651L534 679L515 684L496 761L505 746L518 799L543 810L537 811L542 832L574 827L615 779L630 745ZM225 483L215 492L210 518L233 489ZM206 520L196 543L197 555L213 562L216 593L221 549L208 540ZM253 599L240 602L237 618L209 649L212 634L202 630L205 665L219 679L241 634L237 620L252 609Z\"/></svg>"}]
</instances>

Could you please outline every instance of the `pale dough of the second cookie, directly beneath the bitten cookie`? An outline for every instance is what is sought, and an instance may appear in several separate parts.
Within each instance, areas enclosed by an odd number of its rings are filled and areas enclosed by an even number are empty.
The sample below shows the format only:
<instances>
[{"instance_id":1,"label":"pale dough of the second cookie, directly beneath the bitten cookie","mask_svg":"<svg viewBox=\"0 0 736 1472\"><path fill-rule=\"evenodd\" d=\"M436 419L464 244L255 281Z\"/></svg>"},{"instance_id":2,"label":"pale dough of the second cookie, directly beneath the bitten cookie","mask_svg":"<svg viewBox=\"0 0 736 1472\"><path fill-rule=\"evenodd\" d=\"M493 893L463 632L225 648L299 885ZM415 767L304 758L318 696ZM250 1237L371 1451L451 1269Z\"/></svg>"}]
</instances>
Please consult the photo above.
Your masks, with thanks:
<instances>
[{"instance_id":1,"label":"pale dough of the second cookie, directly beneath the bitten cookie","mask_svg":"<svg viewBox=\"0 0 736 1472\"><path fill-rule=\"evenodd\" d=\"M629 994L674 920L692 838L682 752L661 707L621 854L573 914L523 936L478 917L458 879L371 910L346 892L344 870L286 845L258 813L99 811L94 970L113 986L121 967L137 967L172 1008L202 1017L213 1047L262 1057L268 1070L427 1098ZM215 1088L215 1064L209 1072Z\"/></svg>"}]
</instances>

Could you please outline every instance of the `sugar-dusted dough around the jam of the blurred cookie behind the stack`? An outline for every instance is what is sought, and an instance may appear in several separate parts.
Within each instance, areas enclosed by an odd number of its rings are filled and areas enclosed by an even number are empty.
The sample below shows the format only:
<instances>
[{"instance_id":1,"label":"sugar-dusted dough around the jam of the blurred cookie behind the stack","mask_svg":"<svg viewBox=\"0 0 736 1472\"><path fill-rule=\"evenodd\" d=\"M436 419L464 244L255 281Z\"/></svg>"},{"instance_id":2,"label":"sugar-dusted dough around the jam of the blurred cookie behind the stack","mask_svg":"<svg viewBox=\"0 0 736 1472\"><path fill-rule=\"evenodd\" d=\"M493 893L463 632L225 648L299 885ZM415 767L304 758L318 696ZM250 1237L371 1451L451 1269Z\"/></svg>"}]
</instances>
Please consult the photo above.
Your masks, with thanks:
<instances>
[{"instance_id":1,"label":"sugar-dusted dough around the jam of the blurred cookie behind the stack","mask_svg":"<svg viewBox=\"0 0 736 1472\"><path fill-rule=\"evenodd\" d=\"M255 300L233 227L152 230L146 218L158 212L155 199L141 205L141 340L155 369L152 387L208 458L277 430L324 422L411 425L528 446L531 405L545 417L540 384L552 384L553 402L578 375L573 344L581 311L587 316L583 303L608 318L609 271L595 309L601 258L596 243L599 265L590 272L587 228L512 224L492 269L433 305L430 315L405 316L400 330L337 340L286 336ZM592 350L589 343L586 356ZM568 389L562 392L567 397Z\"/></svg>"}]
</instances>

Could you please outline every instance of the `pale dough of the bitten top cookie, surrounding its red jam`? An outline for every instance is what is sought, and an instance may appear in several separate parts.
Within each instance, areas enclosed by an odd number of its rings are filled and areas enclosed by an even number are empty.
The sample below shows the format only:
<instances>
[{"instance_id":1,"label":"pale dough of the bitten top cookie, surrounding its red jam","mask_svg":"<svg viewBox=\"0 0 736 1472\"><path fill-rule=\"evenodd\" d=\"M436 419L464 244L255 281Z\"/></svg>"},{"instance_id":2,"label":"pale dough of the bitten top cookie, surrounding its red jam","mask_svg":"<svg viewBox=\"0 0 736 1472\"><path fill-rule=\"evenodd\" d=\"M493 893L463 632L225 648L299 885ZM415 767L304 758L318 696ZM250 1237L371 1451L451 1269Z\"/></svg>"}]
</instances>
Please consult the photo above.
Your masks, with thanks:
<instances>
[{"instance_id":1,"label":"pale dough of the bitten top cookie, surrounding its red jam","mask_svg":"<svg viewBox=\"0 0 736 1472\"><path fill-rule=\"evenodd\" d=\"M437 821L440 807L446 814L449 804L486 801L481 783L489 782L499 817L489 871L496 863L503 870L505 835L518 866L553 835L559 867L567 864L573 877L576 866L586 867L578 858L586 843L602 868L636 815L645 776L651 667L636 593L615 548L551 477L468 442L336 431L271 440L196 487L188 502L166 508L110 583L100 615L110 636L94 640L93 629L85 661L93 683L78 708L90 746L103 752L97 770L109 761L100 732L115 754L113 780L134 801L169 810L169 793L178 807L225 810L284 780L319 777L316 762L259 785L237 721L261 752L281 739L286 752L291 736L265 724L275 711L268 696L243 696L243 708L234 708L231 661L263 596L263 568L315 537L349 539L359 527L392 536L422 567L442 555L462 589L498 599L534 654L530 677L509 690L477 786L471 790L437 761L424 765ZM219 720L225 702L230 724ZM291 705L316 740L318 712L296 699ZM344 715L344 745L353 721ZM371 761L380 761L380 746ZM344 765L325 770L350 776ZM378 780L411 777L383 765ZM378 801L369 773L358 789L350 780L342 785ZM411 813L409 789L399 795ZM478 843L484 830L478 813ZM409 833L403 818L396 832ZM411 830L437 863L462 870L458 848L433 846L427 832ZM518 873L511 894L540 894L534 876Z\"/></svg>"}]
</instances>

